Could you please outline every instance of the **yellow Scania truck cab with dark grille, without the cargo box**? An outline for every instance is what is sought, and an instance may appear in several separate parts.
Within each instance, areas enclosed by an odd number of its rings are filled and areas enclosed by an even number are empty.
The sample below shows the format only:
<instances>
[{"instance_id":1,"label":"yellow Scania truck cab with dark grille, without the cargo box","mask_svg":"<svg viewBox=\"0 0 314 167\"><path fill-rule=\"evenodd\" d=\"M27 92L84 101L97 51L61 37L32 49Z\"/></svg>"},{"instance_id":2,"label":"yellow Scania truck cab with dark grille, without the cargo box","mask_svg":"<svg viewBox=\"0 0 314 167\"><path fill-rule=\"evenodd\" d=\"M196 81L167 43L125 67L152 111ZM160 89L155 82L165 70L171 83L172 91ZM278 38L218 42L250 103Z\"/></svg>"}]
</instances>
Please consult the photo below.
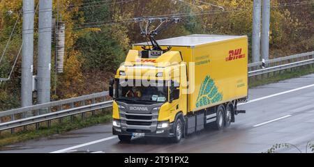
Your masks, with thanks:
<instances>
[{"instance_id":1,"label":"yellow Scania truck cab with dark grille, without the cargo box","mask_svg":"<svg viewBox=\"0 0 314 167\"><path fill-rule=\"evenodd\" d=\"M183 74L181 74L183 72ZM164 136L180 140L187 113L186 63L179 51L130 50L112 81L113 134ZM181 123L174 127L174 120ZM177 134L176 130L177 128Z\"/></svg>"}]
</instances>

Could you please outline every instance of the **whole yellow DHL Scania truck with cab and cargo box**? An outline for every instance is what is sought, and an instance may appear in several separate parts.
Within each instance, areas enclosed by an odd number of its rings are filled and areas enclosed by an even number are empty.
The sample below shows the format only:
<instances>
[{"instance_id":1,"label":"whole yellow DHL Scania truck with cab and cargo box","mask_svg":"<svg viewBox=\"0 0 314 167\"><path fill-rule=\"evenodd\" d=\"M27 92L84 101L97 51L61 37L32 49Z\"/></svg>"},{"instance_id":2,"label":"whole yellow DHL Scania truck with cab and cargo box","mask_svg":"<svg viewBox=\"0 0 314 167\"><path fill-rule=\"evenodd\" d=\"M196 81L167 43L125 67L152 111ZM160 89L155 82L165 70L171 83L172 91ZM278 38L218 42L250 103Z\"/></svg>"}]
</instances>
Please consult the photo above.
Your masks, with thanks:
<instances>
[{"instance_id":1,"label":"whole yellow DHL Scania truck with cab and cargo box","mask_svg":"<svg viewBox=\"0 0 314 167\"><path fill-rule=\"evenodd\" d=\"M248 38L187 35L133 45L110 83L113 134L179 142L208 125L230 126L248 97ZM147 48L149 47L149 49ZM159 48L159 49L158 49Z\"/></svg>"}]
</instances>

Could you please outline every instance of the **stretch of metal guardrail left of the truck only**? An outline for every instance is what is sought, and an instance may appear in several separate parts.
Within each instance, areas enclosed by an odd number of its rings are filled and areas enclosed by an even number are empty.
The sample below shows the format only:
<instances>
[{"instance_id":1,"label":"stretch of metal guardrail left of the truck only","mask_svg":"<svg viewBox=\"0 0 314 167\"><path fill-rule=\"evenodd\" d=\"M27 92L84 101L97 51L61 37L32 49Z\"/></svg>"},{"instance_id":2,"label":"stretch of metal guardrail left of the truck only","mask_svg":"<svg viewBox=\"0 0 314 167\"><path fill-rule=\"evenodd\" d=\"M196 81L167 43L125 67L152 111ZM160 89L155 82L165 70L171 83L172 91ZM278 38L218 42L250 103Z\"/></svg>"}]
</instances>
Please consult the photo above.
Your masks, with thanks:
<instances>
[{"instance_id":1,"label":"stretch of metal guardrail left of the truck only","mask_svg":"<svg viewBox=\"0 0 314 167\"><path fill-rule=\"evenodd\" d=\"M82 113L82 117L84 117L84 113L88 111L92 111L92 114L94 115L94 111L106 108L106 105L103 106L103 103L110 103L110 101L106 101L107 95L109 95L109 93L106 91L70 98L68 100L59 100L56 102L27 106L20 109L0 111L0 132L6 129L11 129L11 132L13 133L15 127L36 124L38 122L54 120L66 116L71 116L71 120L73 120L74 115ZM39 115L39 111L43 109L48 111L48 113ZM1 122L1 118L7 121ZM48 122L48 125L50 125L50 122ZM38 128L38 125L36 125L36 128Z\"/></svg>"}]
</instances>

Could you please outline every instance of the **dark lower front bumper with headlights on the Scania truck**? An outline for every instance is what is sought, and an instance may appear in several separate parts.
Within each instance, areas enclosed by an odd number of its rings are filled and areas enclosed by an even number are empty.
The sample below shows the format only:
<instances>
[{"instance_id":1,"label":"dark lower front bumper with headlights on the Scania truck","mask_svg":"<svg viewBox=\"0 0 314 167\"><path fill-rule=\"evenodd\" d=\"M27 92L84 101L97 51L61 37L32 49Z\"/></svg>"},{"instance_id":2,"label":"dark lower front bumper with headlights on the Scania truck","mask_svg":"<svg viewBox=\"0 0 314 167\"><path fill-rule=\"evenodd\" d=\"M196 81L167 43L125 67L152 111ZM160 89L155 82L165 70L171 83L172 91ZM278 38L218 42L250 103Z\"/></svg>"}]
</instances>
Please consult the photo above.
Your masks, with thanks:
<instances>
[{"instance_id":1,"label":"dark lower front bumper with headlights on the Scania truck","mask_svg":"<svg viewBox=\"0 0 314 167\"><path fill-rule=\"evenodd\" d=\"M133 133L141 133L144 134L144 136L150 136L150 137L173 137L173 123L169 124L169 127L163 128L163 129L157 129L155 132L149 132L147 130L137 129L137 130L130 130L130 129L121 129L121 127L112 127L112 134L113 135L126 135L126 136L133 136ZM158 131L163 131L159 132Z\"/></svg>"}]
</instances>

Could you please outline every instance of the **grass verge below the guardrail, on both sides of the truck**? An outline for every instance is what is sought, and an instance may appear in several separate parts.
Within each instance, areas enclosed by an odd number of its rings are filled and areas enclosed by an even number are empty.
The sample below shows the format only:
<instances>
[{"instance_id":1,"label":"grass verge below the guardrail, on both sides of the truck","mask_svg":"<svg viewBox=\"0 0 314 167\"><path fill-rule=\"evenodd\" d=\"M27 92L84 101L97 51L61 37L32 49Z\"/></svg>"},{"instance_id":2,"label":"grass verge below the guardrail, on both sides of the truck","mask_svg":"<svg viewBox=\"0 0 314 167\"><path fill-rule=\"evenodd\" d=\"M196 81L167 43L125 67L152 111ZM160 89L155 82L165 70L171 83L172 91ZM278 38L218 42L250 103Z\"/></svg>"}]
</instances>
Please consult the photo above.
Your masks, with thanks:
<instances>
[{"instance_id":1,"label":"grass verge below the guardrail, on both sides of the truck","mask_svg":"<svg viewBox=\"0 0 314 167\"><path fill-rule=\"evenodd\" d=\"M269 76L269 78L262 79L252 79L250 80L250 88L254 88L256 86L262 86L265 84L276 83L278 81L282 81L285 79L291 79L295 77L301 77L307 74L313 74L314 67L309 65L308 67L299 67L292 71L285 71L281 74L273 74ZM27 131L16 132L15 134L10 134L10 132L1 132L0 134L0 147L4 145L10 145L14 143L20 143L23 141L29 141L31 139L43 138L47 136L51 136L54 134L63 134L65 132L69 132L74 129L82 129L84 127L90 127L93 125L103 124L110 122L112 120L112 113L110 110L105 110L99 112L96 116L87 116L84 120L80 117L75 117L73 122L70 122L69 118L63 118L63 122L59 123L54 121L51 127L45 126L46 123L40 123L40 128L38 130L34 130L34 128L30 125L28 126ZM42 126L44 125L44 126Z\"/></svg>"}]
</instances>

